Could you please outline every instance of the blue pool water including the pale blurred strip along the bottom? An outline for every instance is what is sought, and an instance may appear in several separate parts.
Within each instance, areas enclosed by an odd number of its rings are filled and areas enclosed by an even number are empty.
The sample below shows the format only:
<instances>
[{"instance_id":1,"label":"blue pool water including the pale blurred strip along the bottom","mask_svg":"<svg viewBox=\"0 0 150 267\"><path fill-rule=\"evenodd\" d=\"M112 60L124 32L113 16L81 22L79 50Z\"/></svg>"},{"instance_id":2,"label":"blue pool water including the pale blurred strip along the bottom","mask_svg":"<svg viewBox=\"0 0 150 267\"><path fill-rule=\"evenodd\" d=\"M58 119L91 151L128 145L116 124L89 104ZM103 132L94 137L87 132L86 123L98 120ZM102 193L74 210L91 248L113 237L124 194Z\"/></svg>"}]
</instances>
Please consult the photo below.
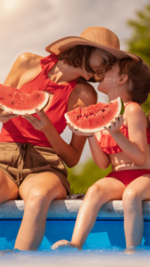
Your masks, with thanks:
<instances>
[{"instance_id":1,"label":"blue pool water including the pale blurred strip along the bottom","mask_svg":"<svg viewBox=\"0 0 150 267\"><path fill-rule=\"evenodd\" d=\"M150 222L145 222L142 246L136 253L124 253L125 239L122 220L99 220L95 223L83 251L51 250L59 239L70 240L75 220L47 220L43 242L37 252L13 250L20 220L0 221L0 266L150 266Z\"/></svg>"}]
</instances>

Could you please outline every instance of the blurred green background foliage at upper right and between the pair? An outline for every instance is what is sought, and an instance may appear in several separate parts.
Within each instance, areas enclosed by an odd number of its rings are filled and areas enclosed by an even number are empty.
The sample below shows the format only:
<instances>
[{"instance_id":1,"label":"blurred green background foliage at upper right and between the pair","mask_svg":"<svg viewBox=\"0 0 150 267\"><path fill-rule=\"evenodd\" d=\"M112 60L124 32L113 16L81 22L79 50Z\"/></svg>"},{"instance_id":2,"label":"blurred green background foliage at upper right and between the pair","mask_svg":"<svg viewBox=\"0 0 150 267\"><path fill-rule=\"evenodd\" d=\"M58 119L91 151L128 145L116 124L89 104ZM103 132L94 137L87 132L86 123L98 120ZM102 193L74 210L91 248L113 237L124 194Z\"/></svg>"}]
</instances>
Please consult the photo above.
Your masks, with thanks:
<instances>
[{"instance_id":1,"label":"blurred green background foliage at upper right and between the pair","mask_svg":"<svg viewBox=\"0 0 150 267\"><path fill-rule=\"evenodd\" d=\"M128 51L138 54L150 66L150 3L142 11L136 12L135 20L128 20L128 25L132 28L132 36L128 40ZM150 109L150 96L146 103L142 105L145 112ZM111 172L111 166L107 170L100 169L93 162L92 158L68 169L68 181L71 184L72 193L85 193L88 188L100 178Z\"/></svg>"}]
</instances>

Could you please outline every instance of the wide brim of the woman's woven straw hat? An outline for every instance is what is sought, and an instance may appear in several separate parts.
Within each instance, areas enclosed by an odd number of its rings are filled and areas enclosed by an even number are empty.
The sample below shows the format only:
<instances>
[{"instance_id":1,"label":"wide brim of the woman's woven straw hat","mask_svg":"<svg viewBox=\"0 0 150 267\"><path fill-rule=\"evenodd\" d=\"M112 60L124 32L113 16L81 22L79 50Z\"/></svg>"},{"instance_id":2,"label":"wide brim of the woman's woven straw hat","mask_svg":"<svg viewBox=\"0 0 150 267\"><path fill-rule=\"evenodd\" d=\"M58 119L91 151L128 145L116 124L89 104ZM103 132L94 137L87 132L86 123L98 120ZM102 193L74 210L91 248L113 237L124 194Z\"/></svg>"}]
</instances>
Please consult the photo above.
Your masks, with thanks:
<instances>
[{"instance_id":1,"label":"wide brim of the woman's woven straw hat","mask_svg":"<svg viewBox=\"0 0 150 267\"><path fill-rule=\"evenodd\" d=\"M103 49L107 51L108 53L113 54L117 60L129 57L129 56L133 60L138 60L138 57L134 53L128 53L117 48L113 48L113 47L103 45L103 44L94 43L82 37L76 37L76 36L67 36L67 37L61 38L53 42L52 44L49 44L45 48L45 50L49 53L59 54L61 52L64 52L64 51L67 51L73 48L75 45L78 45L78 44L91 45L91 46Z\"/></svg>"}]
</instances>

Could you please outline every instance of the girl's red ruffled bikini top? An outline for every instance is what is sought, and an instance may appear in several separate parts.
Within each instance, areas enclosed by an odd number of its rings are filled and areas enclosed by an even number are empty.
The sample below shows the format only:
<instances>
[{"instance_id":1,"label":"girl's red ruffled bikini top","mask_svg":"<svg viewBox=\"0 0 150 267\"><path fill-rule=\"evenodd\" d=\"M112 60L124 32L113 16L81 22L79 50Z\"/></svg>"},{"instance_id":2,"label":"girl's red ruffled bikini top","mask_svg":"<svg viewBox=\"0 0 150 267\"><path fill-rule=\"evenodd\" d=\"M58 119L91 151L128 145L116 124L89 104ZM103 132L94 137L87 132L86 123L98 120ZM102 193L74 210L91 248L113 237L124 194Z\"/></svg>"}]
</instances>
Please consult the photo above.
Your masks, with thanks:
<instances>
[{"instance_id":1,"label":"girl's red ruffled bikini top","mask_svg":"<svg viewBox=\"0 0 150 267\"><path fill-rule=\"evenodd\" d=\"M125 108L129 104L130 103L127 103ZM129 139L128 128L125 125L122 125L120 130L121 130L122 134L124 134ZM147 137L147 143L150 143L150 129L149 128L146 128L146 137ZM101 134L99 144L100 144L100 147L102 148L102 150L107 154L114 154L114 153L122 152L120 147L114 141L111 134Z\"/></svg>"}]
</instances>

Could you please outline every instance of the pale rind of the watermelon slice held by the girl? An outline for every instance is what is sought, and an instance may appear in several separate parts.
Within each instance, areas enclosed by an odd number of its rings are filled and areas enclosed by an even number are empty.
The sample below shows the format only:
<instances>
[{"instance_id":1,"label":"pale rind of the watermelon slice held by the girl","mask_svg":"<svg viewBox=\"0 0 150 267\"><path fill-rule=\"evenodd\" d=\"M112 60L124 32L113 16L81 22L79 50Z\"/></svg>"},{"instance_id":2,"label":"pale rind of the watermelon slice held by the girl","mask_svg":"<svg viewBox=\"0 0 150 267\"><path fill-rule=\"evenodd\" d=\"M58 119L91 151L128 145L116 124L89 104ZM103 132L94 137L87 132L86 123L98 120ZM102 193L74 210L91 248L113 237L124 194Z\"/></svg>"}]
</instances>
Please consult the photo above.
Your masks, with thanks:
<instances>
[{"instance_id":1,"label":"pale rind of the watermelon slice held by the girl","mask_svg":"<svg viewBox=\"0 0 150 267\"><path fill-rule=\"evenodd\" d=\"M120 97L118 97L114 101L118 102L118 109L117 109L117 111L116 111L116 113L114 115L114 118L115 118L115 117L119 117L119 115L123 114L123 112L124 112L124 104L123 104L123 101L122 101L122 99ZM114 101L111 101L110 103L114 103ZM70 125L73 125L71 120L67 116L67 113L65 114L65 117L66 117L67 123L70 124ZM111 122L114 121L114 118L112 118L111 121L109 123L107 123L107 125L105 125L107 128L109 128L111 126ZM99 126L97 128L94 128L94 129L88 129L88 128L87 129L83 129L83 128L77 127L76 125L74 127L75 127L75 130L79 130L81 133L96 133L96 132L100 132L100 131L104 130L104 125Z\"/></svg>"}]
</instances>

